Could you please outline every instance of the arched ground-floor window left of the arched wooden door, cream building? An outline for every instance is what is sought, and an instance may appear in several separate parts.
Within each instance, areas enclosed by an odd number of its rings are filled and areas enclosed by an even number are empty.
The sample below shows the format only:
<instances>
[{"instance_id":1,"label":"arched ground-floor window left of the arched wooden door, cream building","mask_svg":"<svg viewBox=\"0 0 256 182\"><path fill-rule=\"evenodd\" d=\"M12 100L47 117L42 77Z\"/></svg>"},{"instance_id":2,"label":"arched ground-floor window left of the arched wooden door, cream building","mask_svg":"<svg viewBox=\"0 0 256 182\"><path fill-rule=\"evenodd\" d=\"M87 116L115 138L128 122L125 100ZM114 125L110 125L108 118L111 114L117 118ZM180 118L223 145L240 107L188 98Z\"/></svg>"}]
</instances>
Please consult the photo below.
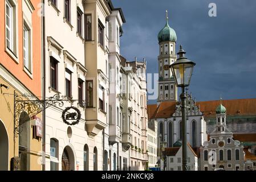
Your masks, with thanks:
<instances>
[{"instance_id":1,"label":"arched ground-floor window left of the arched wooden door, cream building","mask_svg":"<svg viewBox=\"0 0 256 182\"><path fill-rule=\"evenodd\" d=\"M58 171L59 170L59 142L55 138L50 139L50 155L51 155L51 171Z\"/></svg>"}]
</instances>

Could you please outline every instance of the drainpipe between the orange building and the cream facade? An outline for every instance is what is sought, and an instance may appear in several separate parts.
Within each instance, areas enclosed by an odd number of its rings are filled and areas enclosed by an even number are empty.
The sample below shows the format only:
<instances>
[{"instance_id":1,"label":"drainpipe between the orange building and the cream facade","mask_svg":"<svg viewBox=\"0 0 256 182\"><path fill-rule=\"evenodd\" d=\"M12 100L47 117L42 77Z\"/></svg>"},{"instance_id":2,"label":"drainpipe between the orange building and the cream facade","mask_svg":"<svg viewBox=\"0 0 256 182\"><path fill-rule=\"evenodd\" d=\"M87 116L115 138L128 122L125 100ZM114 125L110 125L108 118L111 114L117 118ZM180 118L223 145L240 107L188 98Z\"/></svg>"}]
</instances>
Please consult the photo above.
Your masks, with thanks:
<instances>
[{"instance_id":1,"label":"drainpipe between the orange building and the cream facade","mask_svg":"<svg viewBox=\"0 0 256 182\"><path fill-rule=\"evenodd\" d=\"M43 8L43 14L41 15L42 16L42 20L43 20L43 24L42 24L42 33L43 33L43 103L45 102L45 97L46 97L46 82L45 82L45 76L46 76L46 50L45 50L45 46L46 46L46 32L45 32L45 17L44 17L44 14L45 14L45 9L44 9L44 5L45 5L45 0L42 0L43 3L42 3L42 6L41 8ZM44 155L43 155L43 166L42 166L42 169L43 171L46 170L46 164L45 164L45 154L46 154L46 113L45 113L45 104L43 104L43 152L44 152Z\"/></svg>"}]
</instances>

